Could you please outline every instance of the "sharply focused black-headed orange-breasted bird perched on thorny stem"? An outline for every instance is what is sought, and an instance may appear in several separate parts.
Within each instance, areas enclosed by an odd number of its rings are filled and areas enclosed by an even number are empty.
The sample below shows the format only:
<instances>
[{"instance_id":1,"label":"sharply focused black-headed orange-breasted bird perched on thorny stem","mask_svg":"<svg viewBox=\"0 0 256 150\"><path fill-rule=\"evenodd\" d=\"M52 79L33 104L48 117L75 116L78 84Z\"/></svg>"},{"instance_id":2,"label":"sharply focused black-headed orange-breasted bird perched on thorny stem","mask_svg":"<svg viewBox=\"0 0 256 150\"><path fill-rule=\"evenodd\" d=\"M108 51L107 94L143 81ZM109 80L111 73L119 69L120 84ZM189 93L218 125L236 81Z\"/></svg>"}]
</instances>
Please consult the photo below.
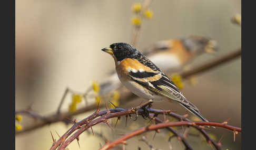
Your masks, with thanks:
<instances>
[{"instance_id":1,"label":"sharply focused black-headed orange-breasted bird perched on thorny stem","mask_svg":"<svg viewBox=\"0 0 256 150\"><path fill-rule=\"evenodd\" d=\"M184 97L171 79L136 48L127 43L118 42L102 51L114 58L117 76L122 84L135 95L153 101L176 102L202 121L208 122L200 114L199 109Z\"/></svg>"}]
</instances>

